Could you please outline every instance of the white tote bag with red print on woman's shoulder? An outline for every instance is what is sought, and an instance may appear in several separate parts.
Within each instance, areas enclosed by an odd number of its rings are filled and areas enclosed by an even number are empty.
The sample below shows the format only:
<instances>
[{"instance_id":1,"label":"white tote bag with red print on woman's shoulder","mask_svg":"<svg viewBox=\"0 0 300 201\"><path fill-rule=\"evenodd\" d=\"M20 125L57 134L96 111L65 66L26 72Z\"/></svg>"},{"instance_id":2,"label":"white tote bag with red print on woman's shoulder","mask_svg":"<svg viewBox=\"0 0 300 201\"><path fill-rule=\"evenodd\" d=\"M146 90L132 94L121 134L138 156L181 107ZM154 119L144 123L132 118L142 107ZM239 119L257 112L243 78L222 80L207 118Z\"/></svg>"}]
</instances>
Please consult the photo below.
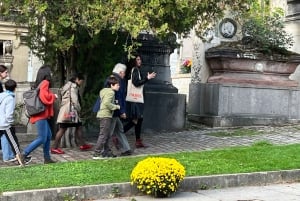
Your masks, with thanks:
<instances>
[{"instance_id":1,"label":"white tote bag with red print on woman's shoulder","mask_svg":"<svg viewBox=\"0 0 300 201\"><path fill-rule=\"evenodd\" d=\"M134 102L134 103L144 103L144 94L143 94L144 85L136 87L134 86L134 84L132 84L132 72L133 69L131 71L130 80L128 80L126 101ZM139 79L141 79L140 72L139 72Z\"/></svg>"}]
</instances>

